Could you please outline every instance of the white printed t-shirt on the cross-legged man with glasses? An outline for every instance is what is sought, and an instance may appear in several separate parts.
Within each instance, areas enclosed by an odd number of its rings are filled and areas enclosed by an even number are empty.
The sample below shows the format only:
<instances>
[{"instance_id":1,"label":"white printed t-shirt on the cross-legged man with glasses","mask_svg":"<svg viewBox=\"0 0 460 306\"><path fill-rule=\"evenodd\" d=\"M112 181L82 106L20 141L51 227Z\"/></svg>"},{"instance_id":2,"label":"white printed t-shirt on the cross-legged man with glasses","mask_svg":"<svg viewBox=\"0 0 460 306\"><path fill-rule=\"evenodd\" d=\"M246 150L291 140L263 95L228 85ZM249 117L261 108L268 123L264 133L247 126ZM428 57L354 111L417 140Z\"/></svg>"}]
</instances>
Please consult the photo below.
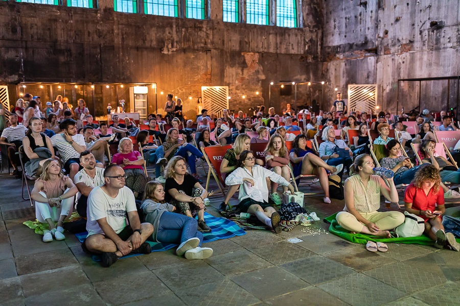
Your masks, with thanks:
<instances>
[{"instance_id":1,"label":"white printed t-shirt on the cross-legged man with glasses","mask_svg":"<svg viewBox=\"0 0 460 306\"><path fill-rule=\"evenodd\" d=\"M98 224L99 219L106 218L107 223L119 234L126 227L126 213L137 211L134 194L124 186L114 198L108 196L101 186L93 189L88 196L86 231L88 236L104 234Z\"/></svg>"}]
</instances>

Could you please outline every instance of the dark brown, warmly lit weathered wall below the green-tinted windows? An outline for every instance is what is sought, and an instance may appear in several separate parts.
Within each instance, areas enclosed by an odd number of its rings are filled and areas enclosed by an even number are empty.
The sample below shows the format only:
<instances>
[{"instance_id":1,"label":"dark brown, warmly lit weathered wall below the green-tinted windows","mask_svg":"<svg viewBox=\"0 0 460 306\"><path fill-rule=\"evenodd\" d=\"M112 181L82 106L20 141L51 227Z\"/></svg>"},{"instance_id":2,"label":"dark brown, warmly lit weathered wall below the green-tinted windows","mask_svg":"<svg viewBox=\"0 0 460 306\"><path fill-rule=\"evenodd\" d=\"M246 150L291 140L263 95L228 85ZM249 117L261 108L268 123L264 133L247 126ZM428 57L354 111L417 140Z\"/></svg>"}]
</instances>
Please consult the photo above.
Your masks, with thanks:
<instances>
[{"instance_id":1,"label":"dark brown, warmly lit weathered wall below the green-tinted windows","mask_svg":"<svg viewBox=\"0 0 460 306\"><path fill-rule=\"evenodd\" d=\"M190 117L201 86L224 85L231 109L268 107L271 81L319 78L321 5L302 3L303 27L286 29L223 22L221 1L208 20L118 13L111 0L99 9L1 1L0 83L155 82L187 101Z\"/></svg>"}]
</instances>

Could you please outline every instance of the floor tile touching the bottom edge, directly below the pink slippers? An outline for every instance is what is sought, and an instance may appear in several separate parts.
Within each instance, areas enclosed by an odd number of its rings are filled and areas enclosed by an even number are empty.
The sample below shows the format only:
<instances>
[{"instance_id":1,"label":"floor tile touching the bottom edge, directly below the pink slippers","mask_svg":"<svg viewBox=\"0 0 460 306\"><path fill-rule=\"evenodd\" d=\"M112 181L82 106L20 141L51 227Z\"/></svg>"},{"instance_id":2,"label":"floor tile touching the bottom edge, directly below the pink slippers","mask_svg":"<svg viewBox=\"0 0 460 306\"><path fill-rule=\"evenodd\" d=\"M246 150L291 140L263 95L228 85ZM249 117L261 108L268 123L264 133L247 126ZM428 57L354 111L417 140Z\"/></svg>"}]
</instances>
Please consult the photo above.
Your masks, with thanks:
<instances>
[{"instance_id":1,"label":"floor tile touching the bottom edge, directly below the pink slippers","mask_svg":"<svg viewBox=\"0 0 460 306\"><path fill-rule=\"evenodd\" d=\"M342 277L317 287L355 306L381 305L406 295L361 273Z\"/></svg>"}]
</instances>

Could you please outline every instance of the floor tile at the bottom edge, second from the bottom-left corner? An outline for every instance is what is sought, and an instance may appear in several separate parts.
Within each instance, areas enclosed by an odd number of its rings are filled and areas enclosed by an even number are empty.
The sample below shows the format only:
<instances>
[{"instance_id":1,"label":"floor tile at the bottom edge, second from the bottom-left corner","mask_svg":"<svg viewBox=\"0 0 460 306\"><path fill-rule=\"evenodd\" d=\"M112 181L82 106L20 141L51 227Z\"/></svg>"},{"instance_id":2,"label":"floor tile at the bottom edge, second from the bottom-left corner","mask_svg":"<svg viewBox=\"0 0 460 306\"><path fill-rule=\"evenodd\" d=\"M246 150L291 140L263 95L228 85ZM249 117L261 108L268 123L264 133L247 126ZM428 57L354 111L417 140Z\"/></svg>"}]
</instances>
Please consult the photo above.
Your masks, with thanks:
<instances>
[{"instance_id":1,"label":"floor tile at the bottom edge, second from the bottom-left corner","mask_svg":"<svg viewBox=\"0 0 460 306\"><path fill-rule=\"evenodd\" d=\"M26 298L28 305L105 306L104 301L91 285L75 286Z\"/></svg>"}]
</instances>

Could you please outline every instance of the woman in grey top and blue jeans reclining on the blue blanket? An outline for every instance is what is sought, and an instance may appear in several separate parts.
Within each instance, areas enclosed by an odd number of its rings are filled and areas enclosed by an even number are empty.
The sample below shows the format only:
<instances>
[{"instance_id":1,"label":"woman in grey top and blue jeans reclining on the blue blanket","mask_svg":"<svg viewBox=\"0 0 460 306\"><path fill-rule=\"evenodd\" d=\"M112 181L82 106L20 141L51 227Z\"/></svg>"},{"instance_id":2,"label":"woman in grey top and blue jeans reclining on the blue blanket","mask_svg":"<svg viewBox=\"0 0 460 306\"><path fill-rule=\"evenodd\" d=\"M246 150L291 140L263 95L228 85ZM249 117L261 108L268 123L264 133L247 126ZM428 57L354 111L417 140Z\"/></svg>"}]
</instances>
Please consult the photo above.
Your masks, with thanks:
<instances>
[{"instance_id":1,"label":"woman in grey top and blue jeans reclining on the blue blanket","mask_svg":"<svg viewBox=\"0 0 460 306\"><path fill-rule=\"evenodd\" d=\"M165 190L159 182L145 185L144 201L141 209L145 221L153 225L151 239L157 242L179 243L176 255L185 254L187 259L206 259L213 254L213 249L201 247L203 234L197 231L198 223L194 218L176 214L176 207L165 203Z\"/></svg>"}]
</instances>

